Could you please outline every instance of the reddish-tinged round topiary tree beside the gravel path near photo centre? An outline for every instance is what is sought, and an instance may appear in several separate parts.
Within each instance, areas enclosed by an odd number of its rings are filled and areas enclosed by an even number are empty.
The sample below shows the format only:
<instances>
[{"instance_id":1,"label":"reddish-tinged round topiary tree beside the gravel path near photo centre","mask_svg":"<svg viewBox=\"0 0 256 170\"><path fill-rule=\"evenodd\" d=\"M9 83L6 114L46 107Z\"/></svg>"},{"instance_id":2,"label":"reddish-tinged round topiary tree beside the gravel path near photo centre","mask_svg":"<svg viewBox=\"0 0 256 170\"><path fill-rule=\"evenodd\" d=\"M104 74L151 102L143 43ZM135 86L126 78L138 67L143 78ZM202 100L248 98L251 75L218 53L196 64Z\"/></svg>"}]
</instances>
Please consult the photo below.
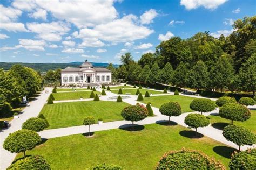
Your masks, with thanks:
<instances>
[{"instance_id":1,"label":"reddish-tinged round topiary tree beside the gravel path near photo centre","mask_svg":"<svg viewBox=\"0 0 256 170\"><path fill-rule=\"evenodd\" d=\"M145 119L147 117L147 111L139 105L129 105L122 110L121 116L126 121L132 121L132 129L134 129L133 122Z\"/></svg>"}]
</instances>

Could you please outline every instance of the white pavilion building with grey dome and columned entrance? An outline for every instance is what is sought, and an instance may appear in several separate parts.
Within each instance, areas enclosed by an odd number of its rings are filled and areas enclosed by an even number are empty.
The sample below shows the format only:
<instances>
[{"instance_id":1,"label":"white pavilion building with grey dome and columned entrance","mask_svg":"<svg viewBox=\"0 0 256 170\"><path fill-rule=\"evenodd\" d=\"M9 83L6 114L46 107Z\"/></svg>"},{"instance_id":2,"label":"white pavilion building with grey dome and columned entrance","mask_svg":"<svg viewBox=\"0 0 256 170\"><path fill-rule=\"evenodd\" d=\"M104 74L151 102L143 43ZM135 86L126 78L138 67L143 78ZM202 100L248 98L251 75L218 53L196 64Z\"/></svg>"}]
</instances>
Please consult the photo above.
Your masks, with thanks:
<instances>
[{"instance_id":1,"label":"white pavilion building with grey dome and columned entrance","mask_svg":"<svg viewBox=\"0 0 256 170\"><path fill-rule=\"evenodd\" d=\"M99 86L112 82L111 71L106 68L94 68L85 60L79 67L66 67L62 70L62 86ZM91 85L91 86L92 86Z\"/></svg>"}]
</instances>

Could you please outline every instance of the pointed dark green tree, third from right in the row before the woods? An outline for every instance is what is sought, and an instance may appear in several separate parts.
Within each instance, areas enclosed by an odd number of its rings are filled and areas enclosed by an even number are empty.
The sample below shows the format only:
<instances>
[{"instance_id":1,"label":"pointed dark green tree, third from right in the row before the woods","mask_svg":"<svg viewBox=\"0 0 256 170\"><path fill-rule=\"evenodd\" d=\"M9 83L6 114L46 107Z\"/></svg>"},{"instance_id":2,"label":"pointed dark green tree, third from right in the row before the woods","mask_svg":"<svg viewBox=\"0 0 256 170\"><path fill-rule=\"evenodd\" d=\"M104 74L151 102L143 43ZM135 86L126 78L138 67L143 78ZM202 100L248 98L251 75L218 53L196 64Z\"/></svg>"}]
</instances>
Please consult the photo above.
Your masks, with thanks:
<instances>
[{"instance_id":1,"label":"pointed dark green tree, third from right in the row before the woods","mask_svg":"<svg viewBox=\"0 0 256 170\"><path fill-rule=\"evenodd\" d=\"M188 85L192 88L206 88L209 82L209 73L203 61L198 61L188 74Z\"/></svg>"}]
</instances>

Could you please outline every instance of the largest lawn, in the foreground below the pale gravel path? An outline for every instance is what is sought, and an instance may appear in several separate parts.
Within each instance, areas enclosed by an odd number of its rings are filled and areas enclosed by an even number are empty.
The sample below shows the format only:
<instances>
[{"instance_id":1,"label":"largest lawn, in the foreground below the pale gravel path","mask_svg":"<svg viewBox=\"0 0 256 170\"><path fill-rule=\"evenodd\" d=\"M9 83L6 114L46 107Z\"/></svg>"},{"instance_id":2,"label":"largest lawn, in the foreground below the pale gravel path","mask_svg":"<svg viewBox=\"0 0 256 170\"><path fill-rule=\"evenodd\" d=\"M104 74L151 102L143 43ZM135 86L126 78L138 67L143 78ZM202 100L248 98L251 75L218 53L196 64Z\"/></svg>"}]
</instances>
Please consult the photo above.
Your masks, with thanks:
<instances>
[{"instance_id":1,"label":"largest lawn, in the foreground below the pale gravel path","mask_svg":"<svg viewBox=\"0 0 256 170\"><path fill-rule=\"evenodd\" d=\"M226 167L234 151L207 137L191 139L194 131L180 125L149 124L136 128L145 129L98 131L92 138L82 134L52 138L26 154L42 155L52 169L87 169L103 162L124 169L154 169L164 153L183 147L201 150ZM18 157L22 156L22 153L18 154Z\"/></svg>"}]
</instances>

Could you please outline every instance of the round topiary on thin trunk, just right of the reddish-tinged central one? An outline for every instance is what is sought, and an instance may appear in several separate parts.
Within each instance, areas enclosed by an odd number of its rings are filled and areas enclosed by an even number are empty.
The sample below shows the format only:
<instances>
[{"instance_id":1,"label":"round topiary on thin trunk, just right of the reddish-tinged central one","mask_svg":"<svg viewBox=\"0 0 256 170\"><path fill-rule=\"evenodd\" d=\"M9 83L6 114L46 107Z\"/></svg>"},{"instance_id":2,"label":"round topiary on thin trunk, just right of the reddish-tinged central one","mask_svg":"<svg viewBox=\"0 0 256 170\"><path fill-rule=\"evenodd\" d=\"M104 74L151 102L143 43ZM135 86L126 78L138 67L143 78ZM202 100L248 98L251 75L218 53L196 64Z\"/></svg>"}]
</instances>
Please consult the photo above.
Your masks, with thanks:
<instances>
[{"instance_id":1,"label":"round topiary on thin trunk, just right of the reddish-tinged central one","mask_svg":"<svg viewBox=\"0 0 256 170\"><path fill-rule=\"evenodd\" d=\"M181 115L181 107L177 102L164 103L160 106L159 111L161 114L169 116L169 124L171 124L171 116Z\"/></svg>"}]
</instances>

